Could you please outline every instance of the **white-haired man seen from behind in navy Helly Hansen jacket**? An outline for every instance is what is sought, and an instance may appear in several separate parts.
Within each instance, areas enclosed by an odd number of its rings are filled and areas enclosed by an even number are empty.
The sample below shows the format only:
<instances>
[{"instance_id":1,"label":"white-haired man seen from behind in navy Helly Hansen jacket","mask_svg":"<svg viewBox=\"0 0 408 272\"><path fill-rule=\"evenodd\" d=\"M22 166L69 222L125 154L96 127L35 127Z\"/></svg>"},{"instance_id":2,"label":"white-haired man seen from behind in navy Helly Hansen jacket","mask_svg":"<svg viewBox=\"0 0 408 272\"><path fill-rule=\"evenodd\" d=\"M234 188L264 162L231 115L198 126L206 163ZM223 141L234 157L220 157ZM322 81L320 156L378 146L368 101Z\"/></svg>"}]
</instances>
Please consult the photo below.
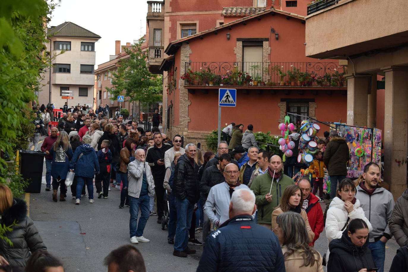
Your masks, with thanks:
<instances>
[{"instance_id":1,"label":"white-haired man seen from behind in navy Helly Hansen jacket","mask_svg":"<svg viewBox=\"0 0 408 272\"><path fill-rule=\"evenodd\" d=\"M279 241L271 230L253 221L251 215L255 210L255 195L251 190L232 193L229 220L208 236L198 272L285 271Z\"/></svg>"}]
</instances>

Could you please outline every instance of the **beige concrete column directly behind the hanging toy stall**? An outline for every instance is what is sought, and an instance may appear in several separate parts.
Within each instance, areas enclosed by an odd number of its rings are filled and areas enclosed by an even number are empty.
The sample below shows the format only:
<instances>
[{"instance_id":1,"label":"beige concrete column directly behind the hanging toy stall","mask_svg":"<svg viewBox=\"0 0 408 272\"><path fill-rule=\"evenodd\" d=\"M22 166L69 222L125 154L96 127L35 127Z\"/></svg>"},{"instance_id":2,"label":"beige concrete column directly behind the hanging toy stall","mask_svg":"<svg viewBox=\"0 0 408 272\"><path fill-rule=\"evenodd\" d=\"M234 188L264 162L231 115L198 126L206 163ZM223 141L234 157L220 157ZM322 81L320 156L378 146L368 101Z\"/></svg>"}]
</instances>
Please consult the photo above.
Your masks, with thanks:
<instances>
[{"instance_id":1,"label":"beige concrete column directly behind the hanging toy stall","mask_svg":"<svg viewBox=\"0 0 408 272\"><path fill-rule=\"evenodd\" d=\"M368 88L371 75L347 75L347 124L367 126Z\"/></svg>"}]
</instances>

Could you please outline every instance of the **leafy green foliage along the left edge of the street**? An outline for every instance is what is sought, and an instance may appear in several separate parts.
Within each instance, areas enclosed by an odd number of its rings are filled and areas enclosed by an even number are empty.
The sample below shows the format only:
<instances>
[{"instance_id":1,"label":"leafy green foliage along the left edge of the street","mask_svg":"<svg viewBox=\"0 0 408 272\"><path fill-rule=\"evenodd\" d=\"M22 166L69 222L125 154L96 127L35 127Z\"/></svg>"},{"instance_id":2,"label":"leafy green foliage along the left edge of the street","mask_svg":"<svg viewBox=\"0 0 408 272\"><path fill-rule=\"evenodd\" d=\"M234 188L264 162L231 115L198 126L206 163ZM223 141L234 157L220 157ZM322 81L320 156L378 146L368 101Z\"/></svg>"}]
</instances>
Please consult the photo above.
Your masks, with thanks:
<instances>
[{"instance_id":1,"label":"leafy green foliage along the left edge of the street","mask_svg":"<svg viewBox=\"0 0 408 272\"><path fill-rule=\"evenodd\" d=\"M0 149L13 159L14 152L31 136L31 101L39 90L47 62L46 23L55 7L52 1L0 1ZM0 182L7 164L0 157ZM8 178L10 180L10 177ZM15 191L13 191L15 193Z\"/></svg>"}]
</instances>

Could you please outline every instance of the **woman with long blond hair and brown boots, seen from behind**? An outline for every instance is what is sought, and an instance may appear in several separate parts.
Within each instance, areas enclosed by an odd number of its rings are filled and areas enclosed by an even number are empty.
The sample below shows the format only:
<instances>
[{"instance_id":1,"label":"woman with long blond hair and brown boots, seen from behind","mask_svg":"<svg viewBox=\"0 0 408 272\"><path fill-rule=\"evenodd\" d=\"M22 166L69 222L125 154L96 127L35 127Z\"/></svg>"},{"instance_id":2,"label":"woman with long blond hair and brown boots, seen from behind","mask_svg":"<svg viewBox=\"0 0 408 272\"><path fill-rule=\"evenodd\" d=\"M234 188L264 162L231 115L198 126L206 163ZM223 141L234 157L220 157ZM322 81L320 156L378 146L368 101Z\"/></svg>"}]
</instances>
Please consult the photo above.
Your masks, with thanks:
<instances>
[{"instance_id":1,"label":"woman with long blond hair and brown boots, seen from behind","mask_svg":"<svg viewBox=\"0 0 408 272\"><path fill-rule=\"evenodd\" d=\"M55 202L58 201L57 192L58 186L60 186L60 201L65 201L65 197L67 196L65 179L67 178L67 172L69 170L69 161L73 155L68 134L65 131L60 132L60 135L51 147L50 154L53 156L51 162L51 176L53 177L52 200Z\"/></svg>"}]
</instances>

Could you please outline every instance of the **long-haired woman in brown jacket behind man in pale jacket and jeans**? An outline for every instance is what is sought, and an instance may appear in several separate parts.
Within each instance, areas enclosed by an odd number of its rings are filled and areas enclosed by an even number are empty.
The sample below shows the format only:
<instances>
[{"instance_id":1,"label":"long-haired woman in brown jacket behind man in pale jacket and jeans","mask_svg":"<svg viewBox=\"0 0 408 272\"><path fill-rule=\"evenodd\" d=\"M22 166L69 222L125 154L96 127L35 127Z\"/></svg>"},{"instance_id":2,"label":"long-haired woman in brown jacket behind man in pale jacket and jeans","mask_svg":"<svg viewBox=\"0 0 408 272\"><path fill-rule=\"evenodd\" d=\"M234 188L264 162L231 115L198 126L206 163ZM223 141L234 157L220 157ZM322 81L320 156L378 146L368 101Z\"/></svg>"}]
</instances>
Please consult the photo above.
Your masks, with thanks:
<instances>
[{"instance_id":1,"label":"long-haired woman in brown jacket behind man in pale jacket and jeans","mask_svg":"<svg viewBox=\"0 0 408 272\"><path fill-rule=\"evenodd\" d=\"M129 204L127 166L131 162L131 157L133 157L132 161L135 159L135 150L133 150L133 147L135 147L135 140L132 138L127 138L125 141L125 147L120 150L118 173L120 175L120 179L122 180L123 186L122 190L120 191L120 209L123 209L125 201L127 204Z\"/></svg>"}]
</instances>

